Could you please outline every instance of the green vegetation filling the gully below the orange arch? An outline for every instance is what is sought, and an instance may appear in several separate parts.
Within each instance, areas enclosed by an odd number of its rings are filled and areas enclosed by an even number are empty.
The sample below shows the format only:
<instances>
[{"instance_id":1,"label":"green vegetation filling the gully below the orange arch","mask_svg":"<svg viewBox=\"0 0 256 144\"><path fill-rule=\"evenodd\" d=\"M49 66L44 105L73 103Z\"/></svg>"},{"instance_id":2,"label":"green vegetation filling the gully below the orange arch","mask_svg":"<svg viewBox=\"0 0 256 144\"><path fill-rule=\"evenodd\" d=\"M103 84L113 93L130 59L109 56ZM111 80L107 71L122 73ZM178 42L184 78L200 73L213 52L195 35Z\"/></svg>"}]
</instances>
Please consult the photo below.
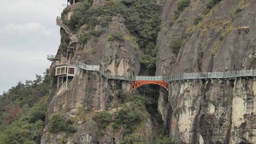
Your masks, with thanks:
<instances>
[{"instance_id":1,"label":"green vegetation filling the gully below the orange arch","mask_svg":"<svg viewBox=\"0 0 256 144\"><path fill-rule=\"evenodd\" d=\"M155 95L152 98L145 95L133 96L121 91L119 95L119 98L122 98L122 102L125 102L125 104L121 105L122 108L119 110L112 126L125 132L124 135L126 137L120 144L146 144L144 135L145 125L143 122L146 117L149 117L148 114L150 114L154 122L159 124L159 129L154 134L154 144L174 144L170 138L164 136L167 135L166 128L162 117L157 113L157 109L155 109L157 108L157 98L155 98Z\"/></svg>"}]
</instances>

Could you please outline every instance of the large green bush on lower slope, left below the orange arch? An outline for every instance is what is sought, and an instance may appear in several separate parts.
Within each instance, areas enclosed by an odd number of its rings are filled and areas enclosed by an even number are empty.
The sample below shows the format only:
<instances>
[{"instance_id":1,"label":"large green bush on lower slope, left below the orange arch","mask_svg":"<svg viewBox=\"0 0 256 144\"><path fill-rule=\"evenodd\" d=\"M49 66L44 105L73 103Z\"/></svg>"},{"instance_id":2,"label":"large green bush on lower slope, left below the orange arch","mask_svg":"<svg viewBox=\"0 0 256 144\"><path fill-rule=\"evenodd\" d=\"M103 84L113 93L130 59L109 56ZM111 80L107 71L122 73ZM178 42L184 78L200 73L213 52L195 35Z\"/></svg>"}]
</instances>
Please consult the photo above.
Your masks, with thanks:
<instances>
[{"instance_id":1,"label":"large green bush on lower slope, left below the orange arch","mask_svg":"<svg viewBox=\"0 0 256 144\"><path fill-rule=\"evenodd\" d=\"M119 128L122 126L129 132L133 132L139 121L140 119L137 116L137 113L131 108L125 106L119 110L118 116L113 124L113 128Z\"/></svg>"}]
</instances>

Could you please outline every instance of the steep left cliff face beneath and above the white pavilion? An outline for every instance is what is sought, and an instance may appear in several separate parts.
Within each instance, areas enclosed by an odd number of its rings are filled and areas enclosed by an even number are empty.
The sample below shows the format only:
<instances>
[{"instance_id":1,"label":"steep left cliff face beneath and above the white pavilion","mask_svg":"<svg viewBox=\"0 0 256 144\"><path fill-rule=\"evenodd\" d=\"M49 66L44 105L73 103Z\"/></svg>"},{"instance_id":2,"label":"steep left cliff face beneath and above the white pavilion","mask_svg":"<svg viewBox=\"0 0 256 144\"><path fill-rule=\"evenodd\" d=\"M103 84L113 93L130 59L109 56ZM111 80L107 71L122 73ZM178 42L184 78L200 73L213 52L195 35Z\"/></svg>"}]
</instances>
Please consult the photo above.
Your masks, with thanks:
<instances>
[{"instance_id":1,"label":"steep left cliff face beneath and above the white pavilion","mask_svg":"<svg viewBox=\"0 0 256 144\"><path fill-rule=\"evenodd\" d=\"M102 5L103 1L95 0L93 7ZM73 10L79 5L79 2L64 9L62 21L67 23L70 20ZM111 18L107 27L97 25L94 29L86 28L86 25L80 27L76 32L77 39L83 39L83 36L91 31L104 30L100 36L91 37L86 43L78 43L68 59L88 64L100 64L105 72L115 73L119 76L138 75L140 71L139 51L136 40L128 33L124 25L124 20L117 15ZM122 33L123 41L108 40L108 36L119 32ZM61 45L57 54L66 56L66 47L71 41L69 35L61 28ZM52 67L55 66L55 63ZM48 103L48 112L46 119L48 124L45 127L41 144L120 144L124 140L125 129L112 128L108 126L104 129L105 134L101 134L101 124L97 123L96 115L102 111L109 112L115 119L118 115L118 107L122 102L120 93L130 90L130 83L125 81L107 80L98 72L86 72L80 70L76 76L68 80L68 87L60 86L60 90L53 90ZM130 104L123 104L130 106ZM135 107L135 106L134 106ZM140 111L140 110L138 110ZM145 111L141 113L145 113ZM56 114L61 114L64 121L73 121L76 131L72 134L68 132L51 133L49 121ZM149 144L152 144L153 126L149 114L143 116L138 121L139 125L136 131L142 137L146 138Z\"/></svg>"}]
</instances>

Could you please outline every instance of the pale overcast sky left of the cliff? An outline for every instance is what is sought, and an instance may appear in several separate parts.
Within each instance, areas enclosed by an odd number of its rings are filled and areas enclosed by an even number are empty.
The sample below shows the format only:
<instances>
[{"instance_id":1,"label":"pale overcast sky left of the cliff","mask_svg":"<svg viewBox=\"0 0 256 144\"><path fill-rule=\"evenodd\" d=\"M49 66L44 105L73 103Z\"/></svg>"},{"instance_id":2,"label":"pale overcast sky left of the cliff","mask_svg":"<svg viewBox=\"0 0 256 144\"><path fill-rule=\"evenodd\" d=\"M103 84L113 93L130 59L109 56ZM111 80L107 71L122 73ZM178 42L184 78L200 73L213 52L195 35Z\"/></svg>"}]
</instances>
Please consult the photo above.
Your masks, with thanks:
<instances>
[{"instance_id":1,"label":"pale overcast sky left of the cliff","mask_svg":"<svg viewBox=\"0 0 256 144\"><path fill-rule=\"evenodd\" d=\"M51 64L60 45L66 0L0 0L0 95L18 81L34 80Z\"/></svg>"}]
</instances>

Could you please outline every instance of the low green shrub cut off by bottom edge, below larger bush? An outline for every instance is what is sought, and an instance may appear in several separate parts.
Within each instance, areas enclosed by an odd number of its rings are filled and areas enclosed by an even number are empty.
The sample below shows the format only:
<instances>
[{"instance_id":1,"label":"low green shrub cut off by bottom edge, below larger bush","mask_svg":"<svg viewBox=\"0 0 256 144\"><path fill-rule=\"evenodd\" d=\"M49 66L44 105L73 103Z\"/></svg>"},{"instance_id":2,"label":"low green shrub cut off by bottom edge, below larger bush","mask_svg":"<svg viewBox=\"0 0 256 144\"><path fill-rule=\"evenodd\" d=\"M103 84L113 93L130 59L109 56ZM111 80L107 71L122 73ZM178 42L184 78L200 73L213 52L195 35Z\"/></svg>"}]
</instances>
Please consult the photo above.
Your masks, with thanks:
<instances>
[{"instance_id":1,"label":"low green shrub cut off by bottom edge, below larger bush","mask_svg":"<svg viewBox=\"0 0 256 144\"><path fill-rule=\"evenodd\" d=\"M146 141L144 137L134 133L127 136L120 144L146 144Z\"/></svg>"}]
</instances>

